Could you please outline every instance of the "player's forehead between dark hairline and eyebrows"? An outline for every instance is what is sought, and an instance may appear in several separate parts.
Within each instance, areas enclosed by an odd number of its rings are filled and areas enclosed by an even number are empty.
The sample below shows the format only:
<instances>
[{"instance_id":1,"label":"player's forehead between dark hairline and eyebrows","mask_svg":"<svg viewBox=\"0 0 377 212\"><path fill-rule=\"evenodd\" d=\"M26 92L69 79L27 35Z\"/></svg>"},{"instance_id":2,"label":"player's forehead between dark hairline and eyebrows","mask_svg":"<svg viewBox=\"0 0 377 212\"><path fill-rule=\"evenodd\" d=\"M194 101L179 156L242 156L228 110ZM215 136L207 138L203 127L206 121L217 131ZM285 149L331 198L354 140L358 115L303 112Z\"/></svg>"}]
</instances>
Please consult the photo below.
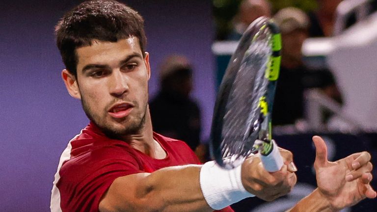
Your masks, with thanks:
<instances>
[{"instance_id":1,"label":"player's forehead between dark hairline and eyebrows","mask_svg":"<svg viewBox=\"0 0 377 212\"><path fill-rule=\"evenodd\" d=\"M90 46L76 49L77 68L81 70L83 66L91 63L111 65L135 53L142 55L137 37L129 37L117 42L93 40Z\"/></svg>"}]
</instances>

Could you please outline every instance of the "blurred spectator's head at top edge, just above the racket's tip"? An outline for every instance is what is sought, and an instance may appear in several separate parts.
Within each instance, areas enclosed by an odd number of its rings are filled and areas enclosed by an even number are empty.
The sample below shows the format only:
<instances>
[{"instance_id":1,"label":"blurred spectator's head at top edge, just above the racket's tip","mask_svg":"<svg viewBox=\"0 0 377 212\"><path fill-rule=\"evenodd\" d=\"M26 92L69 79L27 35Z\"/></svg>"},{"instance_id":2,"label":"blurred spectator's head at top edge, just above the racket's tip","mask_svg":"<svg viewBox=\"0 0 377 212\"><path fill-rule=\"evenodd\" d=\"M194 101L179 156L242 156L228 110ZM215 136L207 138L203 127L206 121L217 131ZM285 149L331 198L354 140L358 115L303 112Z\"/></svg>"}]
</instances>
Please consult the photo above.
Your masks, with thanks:
<instances>
[{"instance_id":1,"label":"blurred spectator's head at top edge, just above the racket's tip","mask_svg":"<svg viewBox=\"0 0 377 212\"><path fill-rule=\"evenodd\" d=\"M233 19L233 29L228 40L239 40L246 28L261 16L271 15L271 5L268 0L242 0L239 10Z\"/></svg>"}]
</instances>

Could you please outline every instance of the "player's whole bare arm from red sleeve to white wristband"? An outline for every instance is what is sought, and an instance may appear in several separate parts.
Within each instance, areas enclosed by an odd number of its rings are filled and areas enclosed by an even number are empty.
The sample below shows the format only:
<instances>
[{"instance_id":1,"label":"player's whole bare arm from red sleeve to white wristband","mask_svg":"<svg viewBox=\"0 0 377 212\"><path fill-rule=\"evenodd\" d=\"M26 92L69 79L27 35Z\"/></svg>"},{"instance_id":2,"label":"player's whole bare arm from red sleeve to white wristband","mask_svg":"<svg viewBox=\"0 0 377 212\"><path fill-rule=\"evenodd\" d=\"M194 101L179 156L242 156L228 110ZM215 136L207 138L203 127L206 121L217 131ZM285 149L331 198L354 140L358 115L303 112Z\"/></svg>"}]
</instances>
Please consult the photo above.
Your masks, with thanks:
<instances>
[{"instance_id":1,"label":"player's whole bare arm from red sleeve to white wristband","mask_svg":"<svg viewBox=\"0 0 377 212\"><path fill-rule=\"evenodd\" d=\"M101 212L212 212L201 192L200 165L162 168L116 179Z\"/></svg>"}]
</instances>

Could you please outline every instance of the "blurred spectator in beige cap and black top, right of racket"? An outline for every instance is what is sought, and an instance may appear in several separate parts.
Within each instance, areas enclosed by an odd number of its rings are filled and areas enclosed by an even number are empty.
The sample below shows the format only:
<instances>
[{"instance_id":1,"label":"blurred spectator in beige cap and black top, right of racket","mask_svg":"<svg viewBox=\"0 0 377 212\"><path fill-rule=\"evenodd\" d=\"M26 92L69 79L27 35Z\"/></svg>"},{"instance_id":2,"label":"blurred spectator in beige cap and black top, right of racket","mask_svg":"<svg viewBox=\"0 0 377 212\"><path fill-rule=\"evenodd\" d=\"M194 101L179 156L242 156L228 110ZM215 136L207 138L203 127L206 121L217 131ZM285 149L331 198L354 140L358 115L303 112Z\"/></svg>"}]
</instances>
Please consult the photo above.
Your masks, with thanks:
<instances>
[{"instance_id":1,"label":"blurred spectator in beige cap and black top, right of racket","mask_svg":"<svg viewBox=\"0 0 377 212\"><path fill-rule=\"evenodd\" d=\"M309 18L300 9L287 7L274 16L282 35L282 58L276 87L273 125L295 124L304 115L304 91L320 88L324 94L342 103L333 75L328 70L309 70L302 62L301 47L308 37Z\"/></svg>"}]
</instances>

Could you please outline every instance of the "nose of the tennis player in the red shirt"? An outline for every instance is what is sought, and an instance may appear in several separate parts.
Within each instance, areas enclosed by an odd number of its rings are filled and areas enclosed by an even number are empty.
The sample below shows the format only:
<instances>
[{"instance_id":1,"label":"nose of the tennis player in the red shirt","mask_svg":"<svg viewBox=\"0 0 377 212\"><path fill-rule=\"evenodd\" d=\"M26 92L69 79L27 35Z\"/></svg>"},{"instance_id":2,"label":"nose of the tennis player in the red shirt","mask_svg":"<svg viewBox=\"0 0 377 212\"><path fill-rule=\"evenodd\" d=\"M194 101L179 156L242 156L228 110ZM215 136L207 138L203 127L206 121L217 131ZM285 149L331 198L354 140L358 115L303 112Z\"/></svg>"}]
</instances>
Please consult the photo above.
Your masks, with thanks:
<instances>
[{"instance_id":1,"label":"nose of the tennis player in the red shirt","mask_svg":"<svg viewBox=\"0 0 377 212\"><path fill-rule=\"evenodd\" d=\"M109 79L109 91L112 96L120 97L129 91L129 79L119 69L114 70Z\"/></svg>"}]
</instances>

